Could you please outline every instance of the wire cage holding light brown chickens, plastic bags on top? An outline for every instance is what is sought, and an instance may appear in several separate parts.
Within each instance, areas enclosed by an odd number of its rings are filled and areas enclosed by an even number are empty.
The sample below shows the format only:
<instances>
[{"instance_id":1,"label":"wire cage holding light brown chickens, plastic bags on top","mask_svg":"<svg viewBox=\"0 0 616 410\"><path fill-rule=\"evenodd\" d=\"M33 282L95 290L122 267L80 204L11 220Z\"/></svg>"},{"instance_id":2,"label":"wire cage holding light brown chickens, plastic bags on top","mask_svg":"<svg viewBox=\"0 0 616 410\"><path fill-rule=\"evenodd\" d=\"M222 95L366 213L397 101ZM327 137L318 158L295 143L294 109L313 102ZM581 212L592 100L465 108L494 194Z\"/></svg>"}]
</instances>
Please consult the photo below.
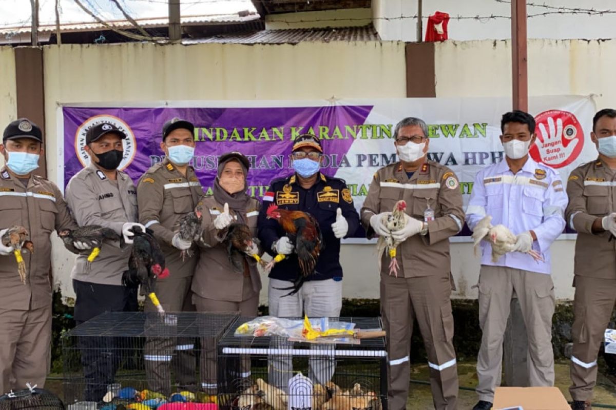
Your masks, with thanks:
<instances>
[{"instance_id":1,"label":"wire cage holding light brown chickens, plastic bags on top","mask_svg":"<svg viewBox=\"0 0 616 410\"><path fill-rule=\"evenodd\" d=\"M239 317L218 344L218 404L248 410L387 409L384 337L354 344L289 341L281 336L236 336L253 318ZM300 319L298 319L300 320ZM322 318L381 329L380 318Z\"/></svg>"}]
</instances>

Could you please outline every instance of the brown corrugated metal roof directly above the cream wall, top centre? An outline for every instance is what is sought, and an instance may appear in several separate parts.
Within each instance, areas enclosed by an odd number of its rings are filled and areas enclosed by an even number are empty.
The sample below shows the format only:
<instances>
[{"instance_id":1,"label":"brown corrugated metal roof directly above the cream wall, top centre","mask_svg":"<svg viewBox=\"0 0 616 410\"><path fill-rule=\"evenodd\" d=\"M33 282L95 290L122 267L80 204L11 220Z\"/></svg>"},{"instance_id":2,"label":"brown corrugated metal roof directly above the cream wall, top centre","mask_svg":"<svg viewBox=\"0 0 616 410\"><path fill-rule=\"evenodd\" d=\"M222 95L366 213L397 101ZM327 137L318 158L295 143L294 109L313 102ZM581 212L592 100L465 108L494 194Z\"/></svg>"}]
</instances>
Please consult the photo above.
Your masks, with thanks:
<instances>
[{"instance_id":1,"label":"brown corrugated metal roof directly above the cream wall, top centre","mask_svg":"<svg viewBox=\"0 0 616 410\"><path fill-rule=\"evenodd\" d=\"M236 44L297 44L302 41L380 41L372 25L361 27L309 28L292 30L259 30L245 33L218 34L216 36L187 39L182 44L236 43Z\"/></svg>"}]
</instances>

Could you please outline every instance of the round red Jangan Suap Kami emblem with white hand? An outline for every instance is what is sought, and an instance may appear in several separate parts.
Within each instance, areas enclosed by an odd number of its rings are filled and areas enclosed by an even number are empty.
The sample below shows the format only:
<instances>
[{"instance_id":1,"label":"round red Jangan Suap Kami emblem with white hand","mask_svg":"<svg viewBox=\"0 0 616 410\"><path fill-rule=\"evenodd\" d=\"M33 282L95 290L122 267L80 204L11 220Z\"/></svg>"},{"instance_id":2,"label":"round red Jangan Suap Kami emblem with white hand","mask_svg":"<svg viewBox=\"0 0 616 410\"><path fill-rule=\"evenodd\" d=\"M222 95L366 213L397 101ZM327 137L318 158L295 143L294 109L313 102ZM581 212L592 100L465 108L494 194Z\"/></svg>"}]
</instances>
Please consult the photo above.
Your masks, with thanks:
<instances>
[{"instance_id":1,"label":"round red Jangan Suap Kami emblem with white hand","mask_svg":"<svg viewBox=\"0 0 616 410\"><path fill-rule=\"evenodd\" d=\"M535 117L537 140L530 147L530 156L553 168L571 164L580 156L584 132L578 119L569 111L551 109Z\"/></svg>"}]
</instances>

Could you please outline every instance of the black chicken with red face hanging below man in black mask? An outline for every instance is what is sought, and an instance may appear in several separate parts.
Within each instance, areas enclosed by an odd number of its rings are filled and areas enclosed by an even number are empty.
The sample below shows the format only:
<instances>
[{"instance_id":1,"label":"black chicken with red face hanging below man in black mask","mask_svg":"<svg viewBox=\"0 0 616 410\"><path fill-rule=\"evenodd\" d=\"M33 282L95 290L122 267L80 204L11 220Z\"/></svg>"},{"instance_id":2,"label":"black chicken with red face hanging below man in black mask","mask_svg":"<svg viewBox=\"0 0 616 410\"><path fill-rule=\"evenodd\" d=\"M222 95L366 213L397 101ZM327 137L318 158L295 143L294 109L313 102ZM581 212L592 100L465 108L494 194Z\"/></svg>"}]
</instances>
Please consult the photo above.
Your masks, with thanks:
<instances>
[{"instance_id":1,"label":"black chicken with red face hanging below man in black mask","mask_svg":"<svg viewBox=\"0 0 616 410\"><path fill-rule=\"evenodd\" d=\"M122 284L136 288L141 285L158 312L164 313L156 294L154 285L156 278L164 279L169 276L169 269L164 266L164 254L160 250L158 241L152 236L152 231L145 232L140 227L132 228L134 232L131 257L128 259L128 270L122 275Z\"/></svg>"}]
</instances>

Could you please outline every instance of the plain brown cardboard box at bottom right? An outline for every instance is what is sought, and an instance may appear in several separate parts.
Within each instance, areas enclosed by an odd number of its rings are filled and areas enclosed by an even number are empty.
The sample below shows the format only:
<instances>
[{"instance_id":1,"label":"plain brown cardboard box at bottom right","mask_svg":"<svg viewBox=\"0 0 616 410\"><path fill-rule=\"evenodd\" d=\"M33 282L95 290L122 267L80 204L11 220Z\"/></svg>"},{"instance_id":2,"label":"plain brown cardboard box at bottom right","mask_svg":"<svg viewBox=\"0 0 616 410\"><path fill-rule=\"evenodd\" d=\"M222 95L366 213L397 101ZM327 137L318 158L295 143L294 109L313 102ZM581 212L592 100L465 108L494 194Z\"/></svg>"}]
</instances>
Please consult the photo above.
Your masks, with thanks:
<instances>
[{"instance_id":1,"label":"plain brown cardboard box at bottom right","mask_svg":"<svg viewBox=\"0 0 616 410\"><path fill-rule=\"evenodd\" d=\"M493 408L571 410L558 387L496 387Z\"/></svg>"}]
</instances>

